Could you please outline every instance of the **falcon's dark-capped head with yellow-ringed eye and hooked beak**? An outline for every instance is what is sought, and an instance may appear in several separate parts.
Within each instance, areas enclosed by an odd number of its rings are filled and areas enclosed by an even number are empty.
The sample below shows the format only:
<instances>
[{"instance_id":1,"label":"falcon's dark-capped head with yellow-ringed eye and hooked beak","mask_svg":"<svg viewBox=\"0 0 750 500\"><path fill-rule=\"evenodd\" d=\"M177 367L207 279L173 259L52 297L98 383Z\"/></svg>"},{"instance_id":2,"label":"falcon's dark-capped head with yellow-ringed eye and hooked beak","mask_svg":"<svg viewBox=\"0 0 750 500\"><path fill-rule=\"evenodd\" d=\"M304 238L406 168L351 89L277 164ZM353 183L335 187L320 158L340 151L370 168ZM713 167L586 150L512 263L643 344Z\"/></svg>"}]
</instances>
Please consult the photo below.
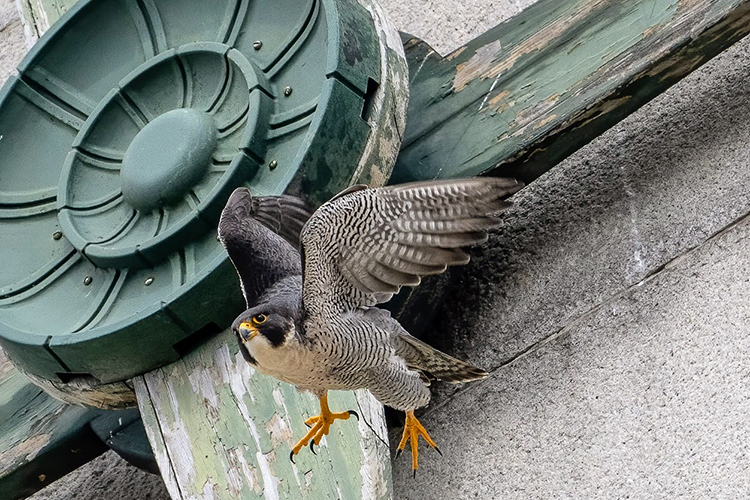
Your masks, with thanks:
<instances>
[{"instance_id":1,"label":"falcon's dark-capped head with yellow-ringed eye and hooked beak","mask_svg":"<svg viewBox=\"0 0 750 500\"><path fill-rule=\"evenodd\" d=\"M248 348L267 343L270 347L280 347L295 335L294 320L285 314L283 308L262 304L240 314L232 324L240 344Z\"/></svg>"}]
</instances>

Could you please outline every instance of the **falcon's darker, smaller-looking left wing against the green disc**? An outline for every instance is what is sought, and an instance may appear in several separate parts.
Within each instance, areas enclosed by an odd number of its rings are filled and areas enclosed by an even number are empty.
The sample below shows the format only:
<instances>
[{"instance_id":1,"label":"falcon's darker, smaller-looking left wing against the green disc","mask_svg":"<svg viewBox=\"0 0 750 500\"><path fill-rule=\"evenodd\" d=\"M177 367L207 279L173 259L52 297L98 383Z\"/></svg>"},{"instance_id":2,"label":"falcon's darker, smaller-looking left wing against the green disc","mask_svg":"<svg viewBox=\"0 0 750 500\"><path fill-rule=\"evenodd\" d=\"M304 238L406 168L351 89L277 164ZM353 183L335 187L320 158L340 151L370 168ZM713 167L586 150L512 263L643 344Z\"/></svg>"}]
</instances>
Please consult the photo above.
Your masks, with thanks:
<instances>
[{"instance_id":1,"label":"falcon's darker, smaller-looking left wing against the green disc","mask_svg":"<svg viewBox=\"0 0 750 500\"><path fill-rule=\"evenodd\" d=\"M237 188L229 197L219 239L240 276L248 307L278 279L302 272L297 250L310 215L309 206L293 196L254 197Z\"/></svg>"}]
</instances>

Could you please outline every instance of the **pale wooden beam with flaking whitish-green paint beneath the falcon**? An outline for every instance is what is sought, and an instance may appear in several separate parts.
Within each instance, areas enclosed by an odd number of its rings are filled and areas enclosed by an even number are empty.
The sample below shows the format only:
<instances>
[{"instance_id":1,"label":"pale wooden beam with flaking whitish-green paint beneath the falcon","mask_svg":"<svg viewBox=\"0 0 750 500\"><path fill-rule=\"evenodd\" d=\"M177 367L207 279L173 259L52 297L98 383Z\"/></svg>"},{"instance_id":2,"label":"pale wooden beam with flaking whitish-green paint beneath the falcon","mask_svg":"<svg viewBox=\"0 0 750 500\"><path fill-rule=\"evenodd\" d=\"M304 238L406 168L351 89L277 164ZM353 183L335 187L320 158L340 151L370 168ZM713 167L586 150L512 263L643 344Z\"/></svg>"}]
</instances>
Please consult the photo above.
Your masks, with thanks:
<instances>
[{"instance_id":1,"label":"pale wooden beam with flaking whitish-green paint beneath the falcon","mask_svg":"<svg viewBox=\"0 0 750 500\"><path fill-rule=\"evenodd\" d=\"M141 416L173 499L390 498L382 406L331 393L337 422L313 455L289 451L318 401L255 373L225 331L179 362L134 379Z\"/></svg>"}]
</instances>

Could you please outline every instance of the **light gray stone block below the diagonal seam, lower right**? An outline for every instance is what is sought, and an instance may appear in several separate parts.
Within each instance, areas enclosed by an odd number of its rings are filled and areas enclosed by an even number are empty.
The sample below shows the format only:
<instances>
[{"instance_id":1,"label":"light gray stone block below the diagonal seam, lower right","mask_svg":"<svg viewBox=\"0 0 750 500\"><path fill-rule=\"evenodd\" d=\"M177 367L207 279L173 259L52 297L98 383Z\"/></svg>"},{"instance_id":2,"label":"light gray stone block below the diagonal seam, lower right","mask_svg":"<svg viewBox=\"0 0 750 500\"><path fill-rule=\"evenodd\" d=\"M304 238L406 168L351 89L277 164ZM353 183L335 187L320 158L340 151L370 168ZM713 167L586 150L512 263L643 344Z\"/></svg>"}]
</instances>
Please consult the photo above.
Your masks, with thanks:
<instances>
[{"instance_id":1,"label":"light gray stone block below the diagonal seam, lower right","mask_svg":"<svg viewBox=\"0 0 750 500\"><path fill-rule=\"evenodd\" d=\"M747 498L750 217L423 424L396 498Z\"/></svg>"}]
</instances>

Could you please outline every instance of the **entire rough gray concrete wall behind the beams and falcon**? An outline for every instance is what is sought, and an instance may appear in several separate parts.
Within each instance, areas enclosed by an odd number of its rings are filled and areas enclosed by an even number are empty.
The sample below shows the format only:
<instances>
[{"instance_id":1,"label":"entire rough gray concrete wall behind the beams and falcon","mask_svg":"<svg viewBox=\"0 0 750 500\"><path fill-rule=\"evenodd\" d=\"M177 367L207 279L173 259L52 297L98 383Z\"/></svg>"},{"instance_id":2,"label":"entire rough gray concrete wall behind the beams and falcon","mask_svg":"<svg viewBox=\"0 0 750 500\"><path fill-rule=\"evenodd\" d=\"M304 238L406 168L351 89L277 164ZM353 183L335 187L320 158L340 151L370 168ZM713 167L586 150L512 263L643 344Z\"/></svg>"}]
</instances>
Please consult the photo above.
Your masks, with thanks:
<instances>
[{"instance_id":1,"label":"entire rough gray concrete wall behind the beams and falcon","mask_svg":"<svg viewBox=\"0 0 750 500\"><path fill-rule=\"evenodd\" d=\"M528 2L385 3L446 53ZM445 456L397 461L396 498L750 494L748 116L746 39L515 197L434 339L492 376L435 387ZM167 496L107 454L33 498Z\"/></svg>"}]
</instances>

